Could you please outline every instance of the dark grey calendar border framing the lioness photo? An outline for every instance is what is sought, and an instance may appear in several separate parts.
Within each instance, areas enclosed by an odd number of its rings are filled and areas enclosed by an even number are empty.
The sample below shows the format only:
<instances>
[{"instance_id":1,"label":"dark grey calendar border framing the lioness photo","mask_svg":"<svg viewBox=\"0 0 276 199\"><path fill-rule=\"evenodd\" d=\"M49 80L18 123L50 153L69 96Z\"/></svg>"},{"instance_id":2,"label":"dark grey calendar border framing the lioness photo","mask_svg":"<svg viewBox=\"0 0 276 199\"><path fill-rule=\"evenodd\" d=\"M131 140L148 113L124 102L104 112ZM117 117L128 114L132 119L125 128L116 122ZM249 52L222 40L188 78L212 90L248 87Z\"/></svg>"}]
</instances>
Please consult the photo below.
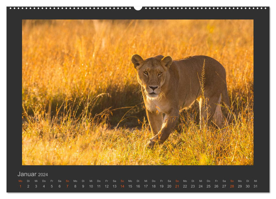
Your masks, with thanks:
<instances>
[{"instance_id":1,"label":"dark grey calendar border framing the lioness photo","mask_svg":"<svg viewBox=\"0 0 276 199\"><path fill-rule=\"evenodd\" d=\"M81 9L81 7L74 10L59 8L29 10L25 7L24 9L7 7L7 106L12 110L7 112L7 126L9 127L7 128L7 192L269 192L269 109L262 108L263 99L269 99L269 7L234 10L228 7L226 7L227 9L223 7L223 9L210 10L201 9L201 7L199 9L191 7L192 9L185 10L142 8L140 11L133 8L118 10L109 10L105 7L95 10ZM22 19L253 19L254 165L23 166L21 135ZM266 92L264 92L264 86L267 89ZM263 93L266 93L267 96L264 96ZM11 118L13 118L12 124ZM18 177L19 172L47 173L47 176ZM38 182L35 183L34 180ZM46 182L42 182L42 180ZM58 180L61 182L59 183ZM98 180L101 182L97 182ZM116 180L116 183L113 180ZM129 180L132 182L128 182ZM183 180L187 180L187 182L185 183ZM207 180L210 182L208 183ZM242 182L239 183L238 180ZM246 180L249 182L247 183ZM254 180L256 181L254 182ZM26 188L28 184L32 186L30 189ZM38 185L38 188L34 187L35 184ZM46 187L43 187L44 184ZM51 184L54 185L53 188L50 187ZM61 188L58 187L59 184ZM90 184L93 184L93 188L89 188ZM128 186L130 184L132 188ZM136 187L138 184L140 188ZM186 189L182 187L184 184L188 186ZM214 188L216 184L218 187ZM242 185L242 188L237 187L239 184ZM250 187L246 188L247 184ZM258 187L254 188L254 184ZM82 185L85 187L82 188ZM105 185L110 187L106 188ZM112 188L112 185L116 185L116 188ZM156 185L156 187L153 188L152 185ZM160 185L164 185L164 187L161 188ZM171 188L167 185L171 185ZM179 185L179 188L175 185ZM191 188L191 185L195 185L195 188ZM207 188L207 185L211 187ZM222 185L226 185L226 187L223 188ZM234 187L230 188L230 185L234 185Z\"/></svg>"}]
</instances>

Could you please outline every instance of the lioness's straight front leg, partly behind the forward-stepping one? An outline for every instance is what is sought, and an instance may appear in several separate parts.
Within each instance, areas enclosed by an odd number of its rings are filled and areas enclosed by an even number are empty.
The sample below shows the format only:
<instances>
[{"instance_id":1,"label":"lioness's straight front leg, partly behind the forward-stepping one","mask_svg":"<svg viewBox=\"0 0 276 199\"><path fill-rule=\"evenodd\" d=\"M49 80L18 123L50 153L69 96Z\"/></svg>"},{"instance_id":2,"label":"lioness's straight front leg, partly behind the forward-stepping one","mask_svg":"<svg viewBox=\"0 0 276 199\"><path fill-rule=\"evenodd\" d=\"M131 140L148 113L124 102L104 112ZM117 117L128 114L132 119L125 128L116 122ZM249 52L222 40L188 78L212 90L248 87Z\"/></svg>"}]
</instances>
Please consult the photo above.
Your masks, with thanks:
<instances>
[{"instance_id":1,"label":"lioness's straight front leg, partly behind the forward-stepping one","mask_svg":"<svg viewBox=\"0 0 276 199\"><path fill-rule=\"evenodd\" d=\"M146 113L148 116L148 121L150 123L150 129L151 129L153 135L156 135L162 127L162 123L163 123L162 113L157 112L157 111L151 112L147 109L146 109Z\"/></svg>"}]
</instances>

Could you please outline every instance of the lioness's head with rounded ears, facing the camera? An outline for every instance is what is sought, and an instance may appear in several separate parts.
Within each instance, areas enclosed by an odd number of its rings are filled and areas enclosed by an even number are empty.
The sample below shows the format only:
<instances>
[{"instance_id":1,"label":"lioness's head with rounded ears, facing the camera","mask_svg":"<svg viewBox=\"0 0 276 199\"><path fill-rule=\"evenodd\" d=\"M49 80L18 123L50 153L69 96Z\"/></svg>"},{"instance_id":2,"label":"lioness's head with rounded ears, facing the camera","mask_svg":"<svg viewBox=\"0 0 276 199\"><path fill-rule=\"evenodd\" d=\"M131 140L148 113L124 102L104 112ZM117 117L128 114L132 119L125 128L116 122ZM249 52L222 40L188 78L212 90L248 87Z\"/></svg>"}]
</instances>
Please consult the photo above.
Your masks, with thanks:
<instances>
[{"instance_id":1,"label":"lioness's head with rounded ears, facing the camera","mask_svg":"<svg viewBox=\"0 0 276 199\"><path fill-rule=\"evenodd\" d=\"M161 87L169 75L169 67L173 59L170 56L158 55L143 59L140 55L132 55L131 61L137 72L137 79L149 99L156 99L161 95Z\"/></svg>"}]
</instances>

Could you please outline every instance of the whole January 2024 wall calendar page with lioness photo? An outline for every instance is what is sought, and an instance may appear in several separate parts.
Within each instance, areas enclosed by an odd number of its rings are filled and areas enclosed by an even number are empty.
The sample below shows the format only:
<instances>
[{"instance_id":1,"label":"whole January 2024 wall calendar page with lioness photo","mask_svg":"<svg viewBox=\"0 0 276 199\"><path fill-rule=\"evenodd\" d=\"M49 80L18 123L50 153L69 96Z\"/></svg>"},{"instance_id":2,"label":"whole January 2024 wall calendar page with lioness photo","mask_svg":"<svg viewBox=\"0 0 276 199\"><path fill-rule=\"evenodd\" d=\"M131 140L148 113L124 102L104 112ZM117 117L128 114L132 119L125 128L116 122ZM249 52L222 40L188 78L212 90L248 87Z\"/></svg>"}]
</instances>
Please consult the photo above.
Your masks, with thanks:
<instances>
[{"instance_id":1,"label":"whole January 2024 wall calendar page with lioness photo","mask_svg":"<svg viewBox=\"0 0 276 199\"><path fill-rule=\"evenodd\" d=\"M7 85L7 192L269 192L269 7L7 7Z\"/></svg>"}]
</instances>

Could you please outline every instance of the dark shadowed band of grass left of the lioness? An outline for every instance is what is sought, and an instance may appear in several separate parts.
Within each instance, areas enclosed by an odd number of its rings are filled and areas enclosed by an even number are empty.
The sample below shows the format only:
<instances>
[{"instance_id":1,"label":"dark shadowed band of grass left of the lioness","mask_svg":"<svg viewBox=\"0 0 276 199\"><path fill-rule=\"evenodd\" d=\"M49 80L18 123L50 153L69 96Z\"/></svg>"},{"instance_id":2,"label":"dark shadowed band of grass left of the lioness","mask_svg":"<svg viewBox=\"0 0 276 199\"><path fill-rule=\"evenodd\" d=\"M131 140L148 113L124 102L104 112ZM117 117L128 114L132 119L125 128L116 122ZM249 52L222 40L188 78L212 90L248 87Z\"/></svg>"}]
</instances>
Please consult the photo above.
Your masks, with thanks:
<instances>
[{"instance_id":1,"label":"dark shadowed band of grass left of the lioness","mask_svg":"<svg viewBox=\"0 0 276 199\"><path fill-rule=\"evenodd\" d=\"M126 126L137 127L146 118L146 111L142 93L139 92L140 86L137 84L129 84L123 90L119 90L114 86L109 86L97 94L84 94L66 96L49 96L44 94L44 99L37 96L28 95L28 91L23 93L23 99L26 99L23 106L29 116L34 116L34 109L41 107L41 113L51 116L62 117L64 114L72 114L75 117L84 114L84 110L88 115L94 117L105 109L111 111L109 119L106 121L111 127ZM23 94L23 95L24 95ZM43 96L43 94L41 94ZM30 99L31 98L31 99ZM58 111L59 110L59 111ZM58 112L58 113L57 113ZM24 120L24 118L23 118Z\"/></svg>"}]
</instances>

